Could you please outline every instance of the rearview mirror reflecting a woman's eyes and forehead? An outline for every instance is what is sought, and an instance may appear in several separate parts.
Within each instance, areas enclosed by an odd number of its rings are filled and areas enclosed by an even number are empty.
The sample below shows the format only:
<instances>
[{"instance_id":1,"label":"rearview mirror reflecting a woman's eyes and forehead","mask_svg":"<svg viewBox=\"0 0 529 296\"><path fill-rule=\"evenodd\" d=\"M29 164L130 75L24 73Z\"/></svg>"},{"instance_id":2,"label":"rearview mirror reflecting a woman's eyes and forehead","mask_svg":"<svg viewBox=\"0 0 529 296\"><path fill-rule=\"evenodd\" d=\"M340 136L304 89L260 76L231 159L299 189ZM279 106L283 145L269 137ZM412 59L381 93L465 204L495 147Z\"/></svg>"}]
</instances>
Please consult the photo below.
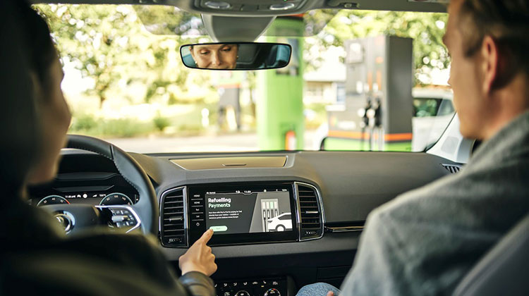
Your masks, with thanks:
<instances>
[{"instance_id":1,"label":"rearview mirror reflecting a woman's eyes and forehead","mask_svg":"<svg viewBox=\"0 0 529 296\"><path fill-rule=\"evenodd\" d=\"M281 43L202 43L180 47L188 68L210 70L261 70L288 65L292 47Z\"/></svg>"}]
</instances>

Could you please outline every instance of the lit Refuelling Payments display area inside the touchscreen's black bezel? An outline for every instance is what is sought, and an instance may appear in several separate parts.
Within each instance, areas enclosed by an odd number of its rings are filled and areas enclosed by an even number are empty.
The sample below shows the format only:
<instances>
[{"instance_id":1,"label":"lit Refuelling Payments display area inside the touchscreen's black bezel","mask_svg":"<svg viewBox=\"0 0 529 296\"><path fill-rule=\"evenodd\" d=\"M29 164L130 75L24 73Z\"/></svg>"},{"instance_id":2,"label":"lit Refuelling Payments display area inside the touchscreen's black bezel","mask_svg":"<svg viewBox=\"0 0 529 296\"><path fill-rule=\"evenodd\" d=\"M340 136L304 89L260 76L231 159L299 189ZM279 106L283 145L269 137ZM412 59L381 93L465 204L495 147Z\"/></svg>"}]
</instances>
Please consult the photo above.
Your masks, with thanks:
<instances>
[{"instance_id":1,"label":"lit Refuelling Payments display area inside the touchscreen's black bezel","mask_svg":"<svg viewBox=\"0 0 529 296\"><path fill-rule=\"evenodd\" d=\"M206 228L215 233L292 230L288 190L206 192Z\"/></svg>"}]
</instances>

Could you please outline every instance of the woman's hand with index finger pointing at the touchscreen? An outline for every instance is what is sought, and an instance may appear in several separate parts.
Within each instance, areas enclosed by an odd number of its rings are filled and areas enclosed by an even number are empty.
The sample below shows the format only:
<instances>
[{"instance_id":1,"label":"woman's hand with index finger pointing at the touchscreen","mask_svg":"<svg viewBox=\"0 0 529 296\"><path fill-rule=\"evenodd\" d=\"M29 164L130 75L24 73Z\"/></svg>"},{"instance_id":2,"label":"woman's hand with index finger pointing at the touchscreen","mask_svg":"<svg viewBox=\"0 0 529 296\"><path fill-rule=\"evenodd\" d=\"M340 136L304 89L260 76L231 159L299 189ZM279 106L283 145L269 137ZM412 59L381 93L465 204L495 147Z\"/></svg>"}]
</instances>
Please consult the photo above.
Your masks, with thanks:
<instances>
[{"instance_id":1,"label":"woman's hand with index finger pointing at the touchscreen","mask_svg":"<svg viewBox=\"0 0 529 296\"><path fill-rule=\"evenodd\" d=\"M213 235L213 230L207 230L189 249L178 259L178 265L182 274L190 271L199 271L206 276L211 276L217 271L215 255L211 252L211 247L206 244Z\"/></svg>"}]
</instances>

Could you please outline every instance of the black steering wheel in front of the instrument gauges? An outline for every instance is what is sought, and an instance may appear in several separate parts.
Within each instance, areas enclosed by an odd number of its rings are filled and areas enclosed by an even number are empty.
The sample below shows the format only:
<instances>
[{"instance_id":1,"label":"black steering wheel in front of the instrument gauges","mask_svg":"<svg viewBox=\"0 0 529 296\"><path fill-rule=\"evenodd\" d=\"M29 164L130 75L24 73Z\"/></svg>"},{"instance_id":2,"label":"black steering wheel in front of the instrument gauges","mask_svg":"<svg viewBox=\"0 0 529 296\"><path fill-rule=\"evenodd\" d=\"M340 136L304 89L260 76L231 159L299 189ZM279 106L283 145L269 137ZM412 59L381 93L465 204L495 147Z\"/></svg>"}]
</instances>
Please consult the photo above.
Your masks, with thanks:
<instances>
[{"instance_id":1,"label":"black steering wheel in front of the instrument gauges","mask_svg":"<svg viewBox=\"0 0 529 296\"><path fill-rule=\"evenodd\" d=\"M108 225L130 232L140 228L142 233L158 234L158 206L154 187L143 168L122 149L95 137L68 135L67 148L94 152L110 159L123 178L138 190L140 199L130 206L90 204L51 204L42 206L56 217L66 233Z\"/></svg>"}]
</instances>

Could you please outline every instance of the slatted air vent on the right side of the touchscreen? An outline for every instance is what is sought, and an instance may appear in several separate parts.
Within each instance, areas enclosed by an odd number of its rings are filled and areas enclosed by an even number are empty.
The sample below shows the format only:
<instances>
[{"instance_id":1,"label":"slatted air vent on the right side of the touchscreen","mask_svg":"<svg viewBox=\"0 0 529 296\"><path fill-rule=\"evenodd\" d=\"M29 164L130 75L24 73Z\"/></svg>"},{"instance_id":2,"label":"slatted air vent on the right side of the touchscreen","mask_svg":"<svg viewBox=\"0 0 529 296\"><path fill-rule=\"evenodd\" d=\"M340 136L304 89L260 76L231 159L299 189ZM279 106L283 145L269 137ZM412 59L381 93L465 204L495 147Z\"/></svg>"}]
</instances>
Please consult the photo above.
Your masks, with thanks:
<instances>
[{"instance_id":1,"label":"slatted air vent on the right side of the touchscreen","mask_svg":"<svg viewBox=\"0 0 529 296\"><path fill-rule=\"evenodd\" d=\"M321 238L323 234L322 201L316 187L295 183L299 211L300 240Z\"/></svg>"}]
</instances>

